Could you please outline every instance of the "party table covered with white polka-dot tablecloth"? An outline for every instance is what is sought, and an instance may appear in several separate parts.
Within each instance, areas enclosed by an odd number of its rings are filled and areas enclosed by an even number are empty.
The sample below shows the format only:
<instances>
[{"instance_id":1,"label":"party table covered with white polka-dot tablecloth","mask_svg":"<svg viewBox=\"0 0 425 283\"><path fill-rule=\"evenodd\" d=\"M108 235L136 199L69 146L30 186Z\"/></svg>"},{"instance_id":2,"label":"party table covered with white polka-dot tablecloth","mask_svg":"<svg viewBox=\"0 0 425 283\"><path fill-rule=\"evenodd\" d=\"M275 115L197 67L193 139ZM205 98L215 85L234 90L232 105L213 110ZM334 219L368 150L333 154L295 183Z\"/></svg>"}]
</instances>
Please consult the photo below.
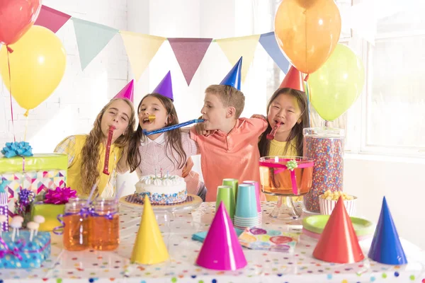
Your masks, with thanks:
<instances>
[{"instance_id":1,"label":"party table covered with white polka-dot tablecloth","mask_svg":"<svg viewBox=\"0 0 425 283\"><path fill-rule=\"evenodd\" d=\"M268 214L276 204L264 202L266 229L295 231L300 238L293 254L244 248L248 265L242 270L220 272L195 265L202 243L191 240L193 233L207 231L215 203L204 202L193 211L156 212L159 229L170 259L158 265L132 265L130 255L140 224L142 208L120 205L120 247L113 252L86 250L69 252L62 237L52 235L52 255L42 268L0 270L1 282L425 282L423 251L402 239L408 265L382 265L367 258L371 239L361 241L365 260L333 264L312 257L317 240L301 232L300 219L277 221Z\"/></svg>"}]
</instances>

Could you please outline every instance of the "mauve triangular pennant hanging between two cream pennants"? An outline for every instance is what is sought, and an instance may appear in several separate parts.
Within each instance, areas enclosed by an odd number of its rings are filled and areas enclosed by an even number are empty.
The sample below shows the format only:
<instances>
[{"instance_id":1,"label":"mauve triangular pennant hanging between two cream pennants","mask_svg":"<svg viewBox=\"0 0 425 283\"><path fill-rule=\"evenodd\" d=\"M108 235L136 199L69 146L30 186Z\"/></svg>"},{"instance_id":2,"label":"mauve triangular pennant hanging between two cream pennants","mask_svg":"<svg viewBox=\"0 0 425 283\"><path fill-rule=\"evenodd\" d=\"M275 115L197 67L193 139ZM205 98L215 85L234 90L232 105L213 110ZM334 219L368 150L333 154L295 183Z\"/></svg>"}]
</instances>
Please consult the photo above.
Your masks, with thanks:
<instances>
[{"instance_id":1,"label":"mauve triangular pennant hanging between two cream pennants","mask_svg":"<svg viewBox=\"0 0 425 283\"><path fill-rule=\"evenodd\" d=\"M189 86L212 38L169 38L168 40Z\"/></svg>"}]
</instances>

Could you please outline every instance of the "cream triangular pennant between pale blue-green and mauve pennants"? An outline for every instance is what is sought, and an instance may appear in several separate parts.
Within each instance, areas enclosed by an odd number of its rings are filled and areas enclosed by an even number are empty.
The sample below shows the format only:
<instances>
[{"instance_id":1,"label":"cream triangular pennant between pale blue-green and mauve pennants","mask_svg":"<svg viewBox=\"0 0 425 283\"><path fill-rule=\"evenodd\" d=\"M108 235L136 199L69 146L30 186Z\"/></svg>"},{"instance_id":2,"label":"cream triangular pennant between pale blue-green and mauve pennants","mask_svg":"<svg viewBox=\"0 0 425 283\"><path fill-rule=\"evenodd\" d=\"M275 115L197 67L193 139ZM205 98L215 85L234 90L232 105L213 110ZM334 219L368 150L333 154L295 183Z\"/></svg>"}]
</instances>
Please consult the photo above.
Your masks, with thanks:
<instances>
[{"instance_id":1,"label":"cream triangular pennant between pale blue-green and mauve pennants","mask_svg":"<svg viewBox=\"0 0 425 283\"><path fill-rule=\"evenodd\" d=\"M132 72L138 81L166 38L124 30L120 33Z\"/></svg>"}]
</instances>

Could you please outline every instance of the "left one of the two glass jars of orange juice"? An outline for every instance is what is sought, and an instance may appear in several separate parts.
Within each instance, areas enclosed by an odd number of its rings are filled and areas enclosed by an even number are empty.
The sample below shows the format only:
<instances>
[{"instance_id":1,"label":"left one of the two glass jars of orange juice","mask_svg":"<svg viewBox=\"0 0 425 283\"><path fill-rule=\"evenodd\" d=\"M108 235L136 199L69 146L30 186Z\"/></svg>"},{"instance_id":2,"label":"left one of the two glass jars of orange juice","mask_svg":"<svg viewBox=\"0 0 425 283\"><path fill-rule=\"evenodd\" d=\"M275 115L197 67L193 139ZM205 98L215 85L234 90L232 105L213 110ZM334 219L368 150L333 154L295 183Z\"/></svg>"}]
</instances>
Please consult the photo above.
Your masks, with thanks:
<instances>
[{"instance_id":1,"label":"left one of the two glass jars of orange juice","mask_svg":"<svg viewBox=\"0 0 425 283\"><path fill-rule=\"evenodd\" d=\"M87 200L69 199L63 216L63 243L65 250L89 248L89 206Z\"/></svg>"}]
</instances>

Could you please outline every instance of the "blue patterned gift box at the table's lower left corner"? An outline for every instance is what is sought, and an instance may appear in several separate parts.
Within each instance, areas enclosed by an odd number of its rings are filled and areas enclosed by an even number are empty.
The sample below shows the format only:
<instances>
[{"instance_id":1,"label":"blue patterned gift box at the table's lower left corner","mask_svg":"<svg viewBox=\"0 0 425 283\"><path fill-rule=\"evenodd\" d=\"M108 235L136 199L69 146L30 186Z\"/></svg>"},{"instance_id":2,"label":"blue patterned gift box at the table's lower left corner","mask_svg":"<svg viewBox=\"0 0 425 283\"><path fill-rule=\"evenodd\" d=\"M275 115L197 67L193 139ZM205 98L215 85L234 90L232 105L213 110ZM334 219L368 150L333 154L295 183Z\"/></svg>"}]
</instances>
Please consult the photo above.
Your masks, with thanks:
<instances>
[{"instance_id":1,"label":"blue patterned gift box at the table's lower left corner","mask_svg":"<svg viewBox=\"0 0 425 283\"><path fill-rule=\"evenodd\" d=\"M21 230L12 242L12 232L3 232L0 240L0 268L40 268L50 257L50 233L38 231L30 241L30 231Z\"/></svg>"}]
</instances>

